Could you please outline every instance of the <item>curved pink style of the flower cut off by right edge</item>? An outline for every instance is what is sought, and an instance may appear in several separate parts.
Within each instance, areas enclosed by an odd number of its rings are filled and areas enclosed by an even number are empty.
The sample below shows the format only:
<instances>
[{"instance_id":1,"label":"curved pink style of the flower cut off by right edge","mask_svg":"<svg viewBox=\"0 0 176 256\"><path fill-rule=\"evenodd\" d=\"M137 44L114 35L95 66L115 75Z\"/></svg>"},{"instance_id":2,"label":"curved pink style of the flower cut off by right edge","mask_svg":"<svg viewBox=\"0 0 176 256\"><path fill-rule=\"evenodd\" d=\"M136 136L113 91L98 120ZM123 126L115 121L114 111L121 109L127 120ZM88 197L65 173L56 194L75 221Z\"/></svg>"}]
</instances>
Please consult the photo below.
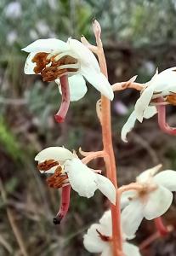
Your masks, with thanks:
<instances>
[{"instance_id":1,"label":"curved pink style of the flower cut off by right edge","mask_svg":"<svg viewBox=\"0 0 176 256\"><path fill-rule=\"evenodd\" d=\"M163 102L162 97L157 100L157 102ZM166 106L159 105L156 107L158 112L158 125L161 130L170 135L176 135L176 128L170 127L166 121Z\"/></svg>"}]
</instances>

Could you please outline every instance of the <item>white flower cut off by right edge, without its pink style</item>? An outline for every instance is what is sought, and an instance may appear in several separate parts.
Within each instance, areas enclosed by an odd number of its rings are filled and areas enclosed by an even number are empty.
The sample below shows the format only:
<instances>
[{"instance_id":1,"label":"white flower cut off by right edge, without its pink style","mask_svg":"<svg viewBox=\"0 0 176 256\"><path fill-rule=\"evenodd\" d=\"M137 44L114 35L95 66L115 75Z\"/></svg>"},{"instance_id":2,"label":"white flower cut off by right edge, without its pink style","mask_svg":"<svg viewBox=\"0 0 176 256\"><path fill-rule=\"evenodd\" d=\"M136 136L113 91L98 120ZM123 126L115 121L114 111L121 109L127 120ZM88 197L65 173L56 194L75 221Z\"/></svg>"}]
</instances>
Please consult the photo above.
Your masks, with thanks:
<instances>
[{"instance_id":1,"label":"white flower cut off by right edge, without its pink style","mask_svg":"<svg viewBox=\"0 0 176 256\"><path fill-rule=\"evenodd\" d=\"M160 101L159 101L160 100ZM122 127L122 140L127 142L127 134L138 119L150 119L157 113L156 106L176 105L176 67L168 68L156 74L144 86L134 110Z\"/></svg>"}]
</instances>

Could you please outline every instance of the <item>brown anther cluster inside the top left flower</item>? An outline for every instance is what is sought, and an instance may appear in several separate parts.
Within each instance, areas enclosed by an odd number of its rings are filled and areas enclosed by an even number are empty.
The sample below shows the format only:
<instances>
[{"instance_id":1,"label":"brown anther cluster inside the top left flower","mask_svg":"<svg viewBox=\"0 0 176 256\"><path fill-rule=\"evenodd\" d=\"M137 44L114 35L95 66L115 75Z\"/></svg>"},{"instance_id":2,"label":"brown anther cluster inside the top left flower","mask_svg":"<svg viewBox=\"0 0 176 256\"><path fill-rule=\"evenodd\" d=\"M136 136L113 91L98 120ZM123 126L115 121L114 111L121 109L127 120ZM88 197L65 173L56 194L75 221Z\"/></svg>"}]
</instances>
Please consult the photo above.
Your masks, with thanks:
<instances>
[{"instance_id":1,"label":"brown anther cluster inside the top left flower","mask_svg":"<svg viewBox=\"0 0 176 256\"><path fill-rule=\"evenodd\" d=\"M47 58L48 54L44 52L37 53L32 59L32 62L36 62L36 67L34 67L34 72L41 74L43 81L51 82L55 79L60 78L68 72L77 72L77 68L62 68L62 65L77 64L77 59L71 57L70 55L65 55L60 60L55 61L57 55L53 55L50 59Z\"/></svg>"}]
</instances>

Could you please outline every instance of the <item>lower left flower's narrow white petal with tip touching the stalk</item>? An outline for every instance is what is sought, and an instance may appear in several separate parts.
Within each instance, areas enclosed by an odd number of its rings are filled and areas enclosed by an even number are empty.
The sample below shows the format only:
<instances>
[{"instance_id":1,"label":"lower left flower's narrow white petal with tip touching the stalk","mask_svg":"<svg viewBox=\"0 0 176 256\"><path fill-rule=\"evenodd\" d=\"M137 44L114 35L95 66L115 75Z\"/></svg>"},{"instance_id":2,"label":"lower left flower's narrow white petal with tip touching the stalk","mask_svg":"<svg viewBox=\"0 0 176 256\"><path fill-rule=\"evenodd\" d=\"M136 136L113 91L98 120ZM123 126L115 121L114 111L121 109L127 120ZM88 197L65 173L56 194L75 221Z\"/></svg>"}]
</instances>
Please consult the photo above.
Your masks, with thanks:
<instances>
[{"instance_id":1,"label":"lower left flower's narrow white petal with tip touching the stalk","mask_svg":"<svg viewBox=\"0 0 176 256\"><path fill-rule=\"evenodd\" d=\"M112 204L116 205L116 188L111 183L111 180L96 173L96 180L98 189L111 201Z\"/></svg>"}]
</instances>

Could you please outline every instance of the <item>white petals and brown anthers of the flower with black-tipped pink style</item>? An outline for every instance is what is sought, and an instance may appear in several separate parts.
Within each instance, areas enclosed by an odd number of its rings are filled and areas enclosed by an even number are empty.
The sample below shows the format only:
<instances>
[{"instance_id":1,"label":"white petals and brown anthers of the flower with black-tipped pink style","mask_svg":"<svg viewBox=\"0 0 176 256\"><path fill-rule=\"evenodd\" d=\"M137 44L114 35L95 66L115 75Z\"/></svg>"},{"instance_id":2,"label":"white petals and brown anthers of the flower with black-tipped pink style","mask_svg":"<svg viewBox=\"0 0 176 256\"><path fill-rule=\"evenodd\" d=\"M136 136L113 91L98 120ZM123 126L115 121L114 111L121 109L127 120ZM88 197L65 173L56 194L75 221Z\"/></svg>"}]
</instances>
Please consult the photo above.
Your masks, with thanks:
<instances>
[{"instance_id":1,"label":"white petals and brown anthers of the flower with black-tipped pink style","mask_svg":"<svg viewBox=\"0 0 176 256\"><path fill-rule=\"evenodd\" d=\"M82 164L82 161L66 148L50 147L37 154L38 169L52 173L48 184L55 189L70 183L71 188L81 196L92 197L99 189L113 204L116 204L116 189L111 181L93 169Z\"/></svg>"}]
</instances>

